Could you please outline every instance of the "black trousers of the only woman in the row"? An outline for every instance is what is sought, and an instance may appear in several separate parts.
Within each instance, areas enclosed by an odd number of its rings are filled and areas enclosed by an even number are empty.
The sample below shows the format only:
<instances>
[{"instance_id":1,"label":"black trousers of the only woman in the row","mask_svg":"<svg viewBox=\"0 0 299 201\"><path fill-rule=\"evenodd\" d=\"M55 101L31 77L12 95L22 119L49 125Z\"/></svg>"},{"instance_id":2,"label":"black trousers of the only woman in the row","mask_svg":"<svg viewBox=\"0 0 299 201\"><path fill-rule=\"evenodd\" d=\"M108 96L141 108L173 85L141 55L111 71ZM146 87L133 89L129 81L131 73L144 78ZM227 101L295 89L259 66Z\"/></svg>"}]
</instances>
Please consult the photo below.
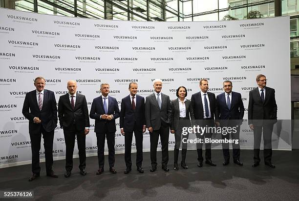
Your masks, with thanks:
<instances>
[{"instance_id":1,"label":"black trousers of the only woman in the row","mask_svg":"<svg viewBox=\"0 0 299 201\"><path fill-rule=\"evenodd\" d=\"M180 118L178 121L178 128L174 132L174 163L177 163L178 160L178 153L180 149L180 145L182 143L182 162L185 162L186 153L187 153L187 140L189 138L189 133L187 135L182 134L183 127L191 127L191 122L189 119ZM181 140L182 137L182 140Z\"/></svg>"}]
</instances>

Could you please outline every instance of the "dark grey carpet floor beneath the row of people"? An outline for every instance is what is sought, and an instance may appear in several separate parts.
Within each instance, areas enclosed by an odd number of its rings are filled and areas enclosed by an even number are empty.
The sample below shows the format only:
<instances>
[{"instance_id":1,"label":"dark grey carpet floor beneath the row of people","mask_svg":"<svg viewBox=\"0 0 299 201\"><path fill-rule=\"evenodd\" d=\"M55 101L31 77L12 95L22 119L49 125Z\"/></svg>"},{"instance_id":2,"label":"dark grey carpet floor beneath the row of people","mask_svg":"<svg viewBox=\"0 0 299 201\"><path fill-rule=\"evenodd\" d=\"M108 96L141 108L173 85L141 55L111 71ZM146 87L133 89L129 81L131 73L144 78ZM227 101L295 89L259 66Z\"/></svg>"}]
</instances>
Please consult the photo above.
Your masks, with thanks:
<instances>
[{"instance_id":1,"label":"dark grey carpet floor beneath the row of people","mask_svg":"<svg viewBox=\"0 0 299 201\"><path fill-rule=\"evenodd\" d=\"M143 154L143 174L138 173L134 166L131 173L124 174L123 154L115 157L115 175L109 172L107 156L105 172L99 176L96 176L97 157L87 158L86 176L79 174L79 159L74 159L70 178L64 178L64 160L54 161L53 170L59 175L57 179L45 176L44 163L41 163L41 177L32 182L28 181L31 165L2 168L0 190L31 190L34 191L34 200L39 201L299 200L299 150L273 151L273 163L277 166L275 169L263 163L251 167L252 150L241 150L240 160L244 166L234 164L232 159L228 166L223 166L222 150L212 150L212 160L217 166L204 164L199 168L196 165L196 151L188 150L186 163L189 168L174 171L173 151L169 154L170 172L164 172L161 164L158 164L156 172L149 172L149 152ZM161 161L161 152L157 152L157 156L157 161ZM135 159L136 154L132 154L133 164Z\"/></svg>"}]
</instances>

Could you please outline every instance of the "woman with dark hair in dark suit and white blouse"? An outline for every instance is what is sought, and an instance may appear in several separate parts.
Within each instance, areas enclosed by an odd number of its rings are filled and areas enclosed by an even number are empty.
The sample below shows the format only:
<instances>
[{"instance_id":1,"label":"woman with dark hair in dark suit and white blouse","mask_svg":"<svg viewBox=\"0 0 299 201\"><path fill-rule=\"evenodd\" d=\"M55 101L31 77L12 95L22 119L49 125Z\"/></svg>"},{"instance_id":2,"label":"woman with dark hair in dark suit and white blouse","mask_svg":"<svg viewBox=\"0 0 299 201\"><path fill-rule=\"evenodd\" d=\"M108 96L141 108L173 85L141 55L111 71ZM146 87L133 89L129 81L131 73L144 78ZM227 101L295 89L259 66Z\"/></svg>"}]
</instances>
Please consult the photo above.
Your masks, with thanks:
<instances>
[{"instance_id":1,"label":"woman with dark hair in dark suit and white blouse","mask_svg":"<svg viewBox=\"0 0 299 201\"><path fill-rule=\"evenodd\" d=\"M190 107L191 101L187 100L187 89L184 86L180 86L176 90L176 96L178 99L171 101L172 108L172 123L171 123L171 133L174 134L175 137L175 145L174 145L174 170L178 170L177 160L179 155L179 149L181 144L181 136L182 136L182 128L190 127ZM188 166L185 163L186 152L187 152L187 139L189 134L183 135L183 139L186 138L182 143L182 161L181 166L184 169L187 169ZM185 142L185 143L184 143Z\"/></svg>"}]
</instances>

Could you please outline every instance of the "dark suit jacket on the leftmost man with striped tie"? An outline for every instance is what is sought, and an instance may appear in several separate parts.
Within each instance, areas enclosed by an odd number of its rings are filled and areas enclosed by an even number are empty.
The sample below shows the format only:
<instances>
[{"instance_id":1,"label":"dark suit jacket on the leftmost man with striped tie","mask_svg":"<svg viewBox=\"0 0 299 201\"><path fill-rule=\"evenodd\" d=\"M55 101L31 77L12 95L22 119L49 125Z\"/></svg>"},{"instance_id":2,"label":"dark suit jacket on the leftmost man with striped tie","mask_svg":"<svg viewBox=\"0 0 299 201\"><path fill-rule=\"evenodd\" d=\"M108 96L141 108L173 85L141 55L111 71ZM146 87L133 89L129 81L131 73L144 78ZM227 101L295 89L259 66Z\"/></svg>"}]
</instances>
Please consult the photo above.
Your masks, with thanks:
<instances>
[{"instance_id":1,"label":"dark suit jacket on the leftmost man with striped tie","mask_svg":"<svg viewBox=\"0 0 299 201\"><path fill-rule=\"evenodd\" d=\"M29 120L29 133L40 133L40 124L34 123L33 119L38 117L42 122L43 129L51 132L57 126L57 106L53 91L43 90L43 107L40 111L36 90L26 94L22 113Z\"/></svg>"}]
</instances>

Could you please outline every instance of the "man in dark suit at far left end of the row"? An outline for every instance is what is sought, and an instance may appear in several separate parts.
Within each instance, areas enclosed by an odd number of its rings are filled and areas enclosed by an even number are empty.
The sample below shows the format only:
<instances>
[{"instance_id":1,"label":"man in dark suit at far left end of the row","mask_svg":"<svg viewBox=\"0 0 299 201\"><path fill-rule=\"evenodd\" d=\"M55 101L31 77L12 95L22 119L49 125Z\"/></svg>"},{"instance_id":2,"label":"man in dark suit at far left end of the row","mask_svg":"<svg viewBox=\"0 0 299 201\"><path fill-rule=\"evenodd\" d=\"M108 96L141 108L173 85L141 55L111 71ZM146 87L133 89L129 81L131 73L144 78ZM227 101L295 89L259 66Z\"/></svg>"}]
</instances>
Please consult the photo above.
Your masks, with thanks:
<instances>
[{"instance_id":1,"label":"man in dark suit at far left end of the row","mask_svg":"<svg viewBox=\"0 0 299 201\"><path fill-rule=\"evenodd\" d=\"M29 135L32 152L32 176L29 181L40 177L40 149L43 134L46 175L58 178L52 170L54 129L57 126L57 106L54 92L44 89L45 80L37 77L34 80L36 90L26 94L22 113L29 120Z\"/></svg>"}]
</instances>

